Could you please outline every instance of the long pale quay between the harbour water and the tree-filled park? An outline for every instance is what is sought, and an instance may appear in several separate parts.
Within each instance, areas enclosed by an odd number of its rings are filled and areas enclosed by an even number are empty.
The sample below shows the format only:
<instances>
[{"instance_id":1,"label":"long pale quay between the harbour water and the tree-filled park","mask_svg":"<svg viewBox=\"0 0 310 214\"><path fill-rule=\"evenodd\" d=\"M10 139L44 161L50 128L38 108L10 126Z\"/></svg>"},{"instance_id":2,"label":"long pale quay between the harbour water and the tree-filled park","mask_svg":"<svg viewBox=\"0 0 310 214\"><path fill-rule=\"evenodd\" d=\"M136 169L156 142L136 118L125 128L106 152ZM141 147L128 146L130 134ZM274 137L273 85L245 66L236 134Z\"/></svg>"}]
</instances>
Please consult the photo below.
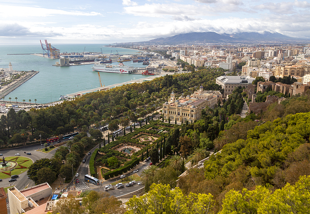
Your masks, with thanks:
<instances>
[{"instance_id":1,"label":"long pale quay between the harbour water and the tree-filled park","mask_svg":"<svg viewBox=\"0 0 310 214\"><path fill-rule=\"evenodd\" d=\"M174 73L172 73L172 72L163 72L163 73L161 73L159 75L144 77L144 78L140 78L140 79L137 79L137 80L130 80L130 81L127 81L127 82L117 83L117 84L108 85L108 86L104 86L104 87L98 87L98 88L91 89L91 90L79 91L79 92L72 93L72 94L66 94L66 96L74 97L75 95L78 95L78 94L86 94L86 93L90 93L90 92L94 92L94 91L111 89L111 88L115 88L117 86L126 85L126 84L132 84L132 83L135 83L135 82L140 83L140 82L144 82L144 81L151 81L151 80L155 79L156 77L166 76L166 74L173 75ZM126 75L126 74L123 74L123 75Z\"/></svg>"}]
</instances>

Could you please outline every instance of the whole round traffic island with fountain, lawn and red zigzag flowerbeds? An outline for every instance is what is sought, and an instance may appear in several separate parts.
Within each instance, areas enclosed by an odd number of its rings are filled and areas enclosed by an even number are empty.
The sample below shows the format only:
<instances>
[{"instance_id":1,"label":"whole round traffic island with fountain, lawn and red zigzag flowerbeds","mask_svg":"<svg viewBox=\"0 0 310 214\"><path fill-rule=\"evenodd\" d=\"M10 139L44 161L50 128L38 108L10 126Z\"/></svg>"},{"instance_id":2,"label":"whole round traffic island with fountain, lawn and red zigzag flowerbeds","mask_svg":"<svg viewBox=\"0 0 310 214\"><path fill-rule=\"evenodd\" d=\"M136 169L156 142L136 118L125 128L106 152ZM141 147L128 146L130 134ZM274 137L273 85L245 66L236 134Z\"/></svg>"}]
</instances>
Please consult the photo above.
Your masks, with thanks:
<instances>
[{"instance_id":1,"label":"whole round traffic island with fountain, lawn and red zigzag flowerbeds","mask_svg":"<svg viewBox=\"0 0 310 214\"><path fill-rule=\"evenodd\" d=\"M11 175L18 175L28 170L33 163L31 159L26 157L3 157L0 159L0 178L9 178Z\"/></svg>"}]
</instances>

